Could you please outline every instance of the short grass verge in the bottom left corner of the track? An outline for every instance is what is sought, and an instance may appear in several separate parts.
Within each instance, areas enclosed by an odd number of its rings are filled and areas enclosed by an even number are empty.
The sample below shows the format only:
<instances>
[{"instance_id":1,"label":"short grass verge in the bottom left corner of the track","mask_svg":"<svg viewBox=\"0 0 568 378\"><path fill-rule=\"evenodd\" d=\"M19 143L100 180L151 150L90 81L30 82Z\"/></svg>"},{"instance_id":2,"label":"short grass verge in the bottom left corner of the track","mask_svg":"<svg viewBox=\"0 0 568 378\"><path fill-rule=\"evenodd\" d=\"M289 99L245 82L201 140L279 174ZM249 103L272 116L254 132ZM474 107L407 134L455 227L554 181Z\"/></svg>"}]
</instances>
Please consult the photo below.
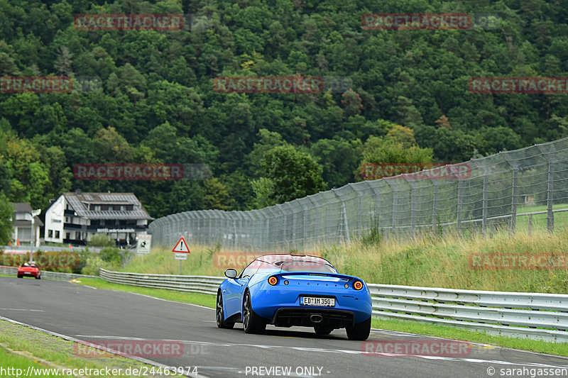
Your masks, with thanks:
<instances>
[{"instance_id":1,"label":"short grass verge in the bottom left corner of the track","mask_svg":"<svg viewBox=\"0 0 568 378\"><path fill-rule=\"evenodd\" d=\"M92 369L91 374L75 374L76 376L86 377L138 377L138 374L125 374L127 369L145 369L150 376L162 377L166 374L150 374L151 365L146 365L136 360L126 357L119 357L109 353L103 353L94 348L81 345L77 348L78 343L64 340L62 338L49 335L47 333L33 330L31 328L10 323L9 321L0 321L0 367L4 369L15 367L27 372L28 366L40 369L59 369L60 376L62 369ZM77 351L80 351L78 353ZM89 357L94 356L94 357ZM104 374L105 369L121 369L122 374ZM103 372L97 374L93 372ZM147 369L147 370L146 370ZM154 368L158 369L158 368ZM13 371L13 370L12 370ZM154 370L155 372L155 370ZM51 372L33 372L32 377L56 377L57 373ZM84 371L84 373L88 373ZM16 374L9 374L16 377ZM23 374L20 374L23 376ZM74 375L67 376L73 377ZM179 377L170 374L170 377Z\"/></svg>"}]
</instances>

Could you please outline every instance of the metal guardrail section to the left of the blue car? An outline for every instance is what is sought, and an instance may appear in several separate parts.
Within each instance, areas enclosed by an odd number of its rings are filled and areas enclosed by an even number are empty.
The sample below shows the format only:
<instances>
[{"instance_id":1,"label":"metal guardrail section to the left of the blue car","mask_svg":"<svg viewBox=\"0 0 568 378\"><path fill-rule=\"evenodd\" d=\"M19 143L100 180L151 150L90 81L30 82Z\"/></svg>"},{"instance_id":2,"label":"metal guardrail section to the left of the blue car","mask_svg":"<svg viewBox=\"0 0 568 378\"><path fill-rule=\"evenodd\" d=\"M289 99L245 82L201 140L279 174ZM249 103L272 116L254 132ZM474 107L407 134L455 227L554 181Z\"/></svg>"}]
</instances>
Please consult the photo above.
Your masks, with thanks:
<instances>
[{"instance_id":1,"label":"metal guardrail section to the left of the blue car","mask_svg":"<svg viewBox=\"0 0 568 378\"><path fill-rule=\"evenodd\" d=\"M223 277L111 272L106 269L100 269L99 275L102 279L106 279L108 282L113 282L115 284L189 291L193 293L211 295L217 294L217 288L224 280Z\"/></svg>"}]
</instances>

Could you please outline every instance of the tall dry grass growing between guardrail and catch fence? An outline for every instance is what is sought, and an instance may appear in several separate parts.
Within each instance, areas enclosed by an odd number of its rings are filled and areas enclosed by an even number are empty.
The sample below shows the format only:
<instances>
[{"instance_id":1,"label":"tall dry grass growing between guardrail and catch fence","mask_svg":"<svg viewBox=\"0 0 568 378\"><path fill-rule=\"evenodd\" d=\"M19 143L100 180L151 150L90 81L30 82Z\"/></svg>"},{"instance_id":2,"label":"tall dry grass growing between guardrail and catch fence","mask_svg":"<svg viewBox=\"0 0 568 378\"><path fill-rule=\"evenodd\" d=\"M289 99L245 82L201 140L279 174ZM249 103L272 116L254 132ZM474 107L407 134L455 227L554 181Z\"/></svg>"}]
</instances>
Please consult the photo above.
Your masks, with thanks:
<instances>
[{"instance_id":1,"label":"tall dry grass growing between guardrail and catch fence","mask_svg":"<svg viewBox=\"0 0 568 378\"><path fill-rule=\"evenodd\" d=\"M447 287L491 291L568 293L567 269L473 269L469 256L479 253L568 254L568 229L555 233L537 230L511 235L508 230L493 230L488 235L425 233L414 238L362 237L347 245L316 245L312 252L332 262L341 273L361 277L368 283L399 284L422 287ZM182 261L182 274L222 276L224 269L241 269L257 252L234 252L235 257L222 264L216 259L219 245L192 246L187 261ZM178 274L179 262L173 252L153 250L150 255L136 257L125 268L129 272ZM229 255L229 254L226 254ZM239 263L240 262L240 263Z\"/></svg>"}]
</instances>

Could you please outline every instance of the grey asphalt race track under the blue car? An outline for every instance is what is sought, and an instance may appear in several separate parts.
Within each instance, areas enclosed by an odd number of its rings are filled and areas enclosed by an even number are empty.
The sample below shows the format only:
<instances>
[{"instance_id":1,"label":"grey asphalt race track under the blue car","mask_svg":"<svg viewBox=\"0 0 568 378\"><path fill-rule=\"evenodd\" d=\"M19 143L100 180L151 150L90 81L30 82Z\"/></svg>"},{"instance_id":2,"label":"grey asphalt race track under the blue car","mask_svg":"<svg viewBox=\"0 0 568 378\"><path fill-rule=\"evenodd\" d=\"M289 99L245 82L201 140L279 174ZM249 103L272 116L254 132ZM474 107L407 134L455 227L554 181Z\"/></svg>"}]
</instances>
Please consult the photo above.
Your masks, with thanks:
<instances>
[{"instance_id":1,"label":"grey asphalt race track under the blue car","mask_svg":"<svg viewBox=\"0 0 568 378\"><path fill-rule=\"evenodd\" d=\"M452 357L371 354L364 350L377 350L347 340L345 330L320 337L312 328L268 326L265 335L248 335L241 324L217 328L212 308L43 279L0 277L0 316L88 342L175 340L180 357L144 357L197 367L201 377L503 377L501 369L523 367L530 377L530 369L568 367L568 358L478 344ZM372 330L368 341L383 348L410 340L449 342L386 330Z\"/></svg>"}]
</instances>

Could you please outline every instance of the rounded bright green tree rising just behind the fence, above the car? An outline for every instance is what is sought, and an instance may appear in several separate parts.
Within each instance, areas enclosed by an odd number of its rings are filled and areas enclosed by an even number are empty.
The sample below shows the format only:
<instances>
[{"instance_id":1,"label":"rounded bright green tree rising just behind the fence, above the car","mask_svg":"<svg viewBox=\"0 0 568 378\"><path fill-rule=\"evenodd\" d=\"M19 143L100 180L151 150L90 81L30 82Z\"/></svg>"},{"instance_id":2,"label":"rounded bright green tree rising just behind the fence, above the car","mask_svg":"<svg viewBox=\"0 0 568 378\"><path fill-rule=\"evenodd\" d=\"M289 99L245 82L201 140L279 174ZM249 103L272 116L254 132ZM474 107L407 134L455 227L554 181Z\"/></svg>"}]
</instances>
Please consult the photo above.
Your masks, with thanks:
<instances>
[{"instance_id":1,"label":"rounded bright green tree rising just behind the fence, above the car","mask_svg":"<svg viewBox=\"0 0 568 378\"><path fill-rule=\"evenodd\" d=\"M322 166L305 152L283 145L265 152L261 165L264 177L273 181L268 198L282 204L325 189Z\"/></svg>"}]
</instances>

